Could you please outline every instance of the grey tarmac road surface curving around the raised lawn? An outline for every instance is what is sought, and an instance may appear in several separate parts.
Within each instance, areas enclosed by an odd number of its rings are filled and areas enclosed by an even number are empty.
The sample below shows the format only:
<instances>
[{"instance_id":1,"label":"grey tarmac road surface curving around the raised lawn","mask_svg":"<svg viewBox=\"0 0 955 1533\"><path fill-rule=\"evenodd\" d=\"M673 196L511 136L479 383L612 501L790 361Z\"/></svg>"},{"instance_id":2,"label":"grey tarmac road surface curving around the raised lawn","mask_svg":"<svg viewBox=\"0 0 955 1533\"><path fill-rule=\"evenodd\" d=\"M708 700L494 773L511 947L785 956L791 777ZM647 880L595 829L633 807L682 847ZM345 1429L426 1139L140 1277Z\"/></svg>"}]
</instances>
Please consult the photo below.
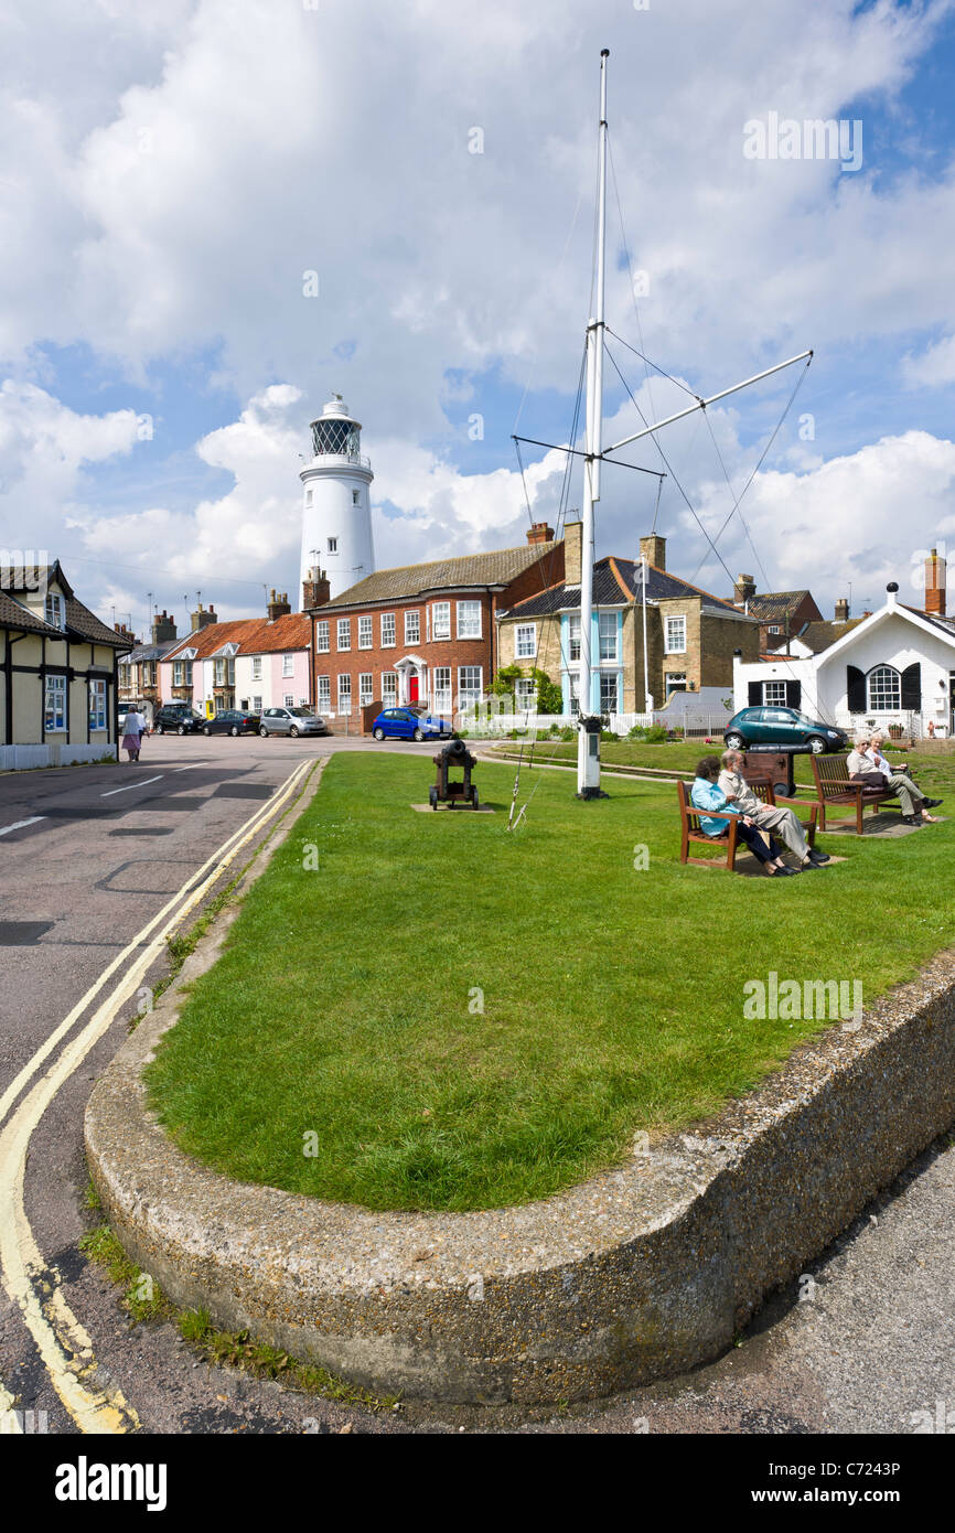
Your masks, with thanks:
<instances>
[{"instance_id":1,"label":"grey tarmac road surface curving around the raised lawn","mask_svg":"<svg viewBox=\"0 0 955 1533\"><path fill-rule=\"evenodd\" d=\"M71 1334L86 1375L126 1403L120 1430L955 1430L949 1139L926 1151L797 1283L773 1295L724 1358L604 1401L558 1410L403 1401L376 1413L199 1361L170 1325L129 1323L112 1285L77 1246L95 1222L84 1206L81 1124L92 1082L144 1004L144 986L164 972L149 946L162 921L152 934L146 927L167 906L173 917L187 912L189 926L202 903L205 865L215 874L222 848L239 848L212 894L270 831L271 822L254 817L270 814L296 768L356 748L434 754L429 744L166 736L144 742L138 766L0 776L0 1130L6 1137L18 1118L26 1124L9 1139L6 1159L0 1151L0 1430L80 1430L54 1383L58 1360L37 1340L44 1334L37 1315L55 1318L57 1311L75 1321ZM110 964L115 972L103 980ZM126 996L124 980L135 986ZM67 1050L94 1015L103 1015L101 1033L74 1065ZM29 1315L14 1271L28 1246ZM35 1415L3 1416L5 1406Z\"/></svg>"}]
</instances>

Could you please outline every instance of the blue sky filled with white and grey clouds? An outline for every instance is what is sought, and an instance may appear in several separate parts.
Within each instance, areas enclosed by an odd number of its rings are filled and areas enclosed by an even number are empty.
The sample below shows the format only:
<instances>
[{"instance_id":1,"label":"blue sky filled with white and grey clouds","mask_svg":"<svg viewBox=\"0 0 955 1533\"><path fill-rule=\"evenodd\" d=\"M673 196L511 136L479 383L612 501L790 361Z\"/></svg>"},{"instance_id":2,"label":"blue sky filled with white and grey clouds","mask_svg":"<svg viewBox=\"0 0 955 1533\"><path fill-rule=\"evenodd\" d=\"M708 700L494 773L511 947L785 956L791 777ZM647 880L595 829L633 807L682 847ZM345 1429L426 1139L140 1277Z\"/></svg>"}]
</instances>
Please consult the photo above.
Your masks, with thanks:
<instances>
[{"instance_id":1,"label":"blue sky filled with white and grey clouds","mask_svg":"<svg viewBox=\"0 0 955 1533\"><path fill-rule=\"evenodd\" d=\"M604 440L814 357L624 449L667 478L604 469L598 556L656 517L717 595L918 604L955 556L955 0L8 0L0 555L139 635L297 607L333 389L380 569L578 507L601 48ZM514 432L555 445L523 477Z\"/></svg>"}]
</instances>

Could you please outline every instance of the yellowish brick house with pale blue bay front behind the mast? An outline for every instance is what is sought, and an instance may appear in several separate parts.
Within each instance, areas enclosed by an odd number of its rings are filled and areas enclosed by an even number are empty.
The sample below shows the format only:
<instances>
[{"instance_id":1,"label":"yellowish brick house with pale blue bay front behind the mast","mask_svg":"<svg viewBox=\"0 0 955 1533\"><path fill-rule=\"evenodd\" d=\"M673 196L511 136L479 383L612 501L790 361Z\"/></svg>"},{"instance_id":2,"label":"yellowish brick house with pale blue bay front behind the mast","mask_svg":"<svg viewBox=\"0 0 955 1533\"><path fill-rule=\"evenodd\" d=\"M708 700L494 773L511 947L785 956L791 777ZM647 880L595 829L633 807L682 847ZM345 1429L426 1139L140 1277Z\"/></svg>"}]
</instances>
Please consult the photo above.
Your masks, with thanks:
<instances>
[{"instance_id":1,"label":"yellowish brick house with pale blue bay front behind the mast","mask_svg":"<svg viewBox=\"0 0 955 1533\"><path fill-rule=\"evenodd\" d=\"M537 668L560 681L563 711L578 711L581 535L579 521L564 529L563 581L498 612L498 665L524 670L515 684L518 708L533 701L530 671ZM593 713L644 711L644 595L655 707L674 691L730 691L734 653L740 650L745 659L759 655L757 622L733 602L670 575L665 552L665 538L641 538L645 592L639 561L610 555L593 566Z\"/></svg>"}]
</instances>

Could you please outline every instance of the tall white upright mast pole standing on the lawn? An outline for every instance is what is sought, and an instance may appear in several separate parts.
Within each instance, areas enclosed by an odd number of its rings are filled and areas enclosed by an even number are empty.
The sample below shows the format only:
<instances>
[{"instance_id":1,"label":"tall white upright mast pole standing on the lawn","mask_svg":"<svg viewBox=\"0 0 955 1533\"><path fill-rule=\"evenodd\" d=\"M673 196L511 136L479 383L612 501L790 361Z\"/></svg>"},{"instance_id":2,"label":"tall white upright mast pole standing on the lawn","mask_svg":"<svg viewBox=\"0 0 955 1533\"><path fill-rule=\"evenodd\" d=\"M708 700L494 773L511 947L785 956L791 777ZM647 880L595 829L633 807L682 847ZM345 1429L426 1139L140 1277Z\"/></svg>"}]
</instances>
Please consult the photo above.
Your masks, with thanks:
<instances>
[{"instance_id":1,"label":"tall white upright mast pole standing on the lawn","mask_svg":"<svg viewBox=\"0 0 955 1533\"><path fill-rule=\"evenodd\" d=\"M581 527L581 671L579 671L579 734L576 750L576 793L579 799L601 796L599 724L587 730L583 724L599 714L599 698L593 705L592 627L593 627L593 506L601 498L601 452L604 443L604 282L607 231L607 58L601 49L601 117L598 129L598 193L596 193L596 314L587 325L587 432L584 460L584 506Z\"/></svg>"}]
</instances>

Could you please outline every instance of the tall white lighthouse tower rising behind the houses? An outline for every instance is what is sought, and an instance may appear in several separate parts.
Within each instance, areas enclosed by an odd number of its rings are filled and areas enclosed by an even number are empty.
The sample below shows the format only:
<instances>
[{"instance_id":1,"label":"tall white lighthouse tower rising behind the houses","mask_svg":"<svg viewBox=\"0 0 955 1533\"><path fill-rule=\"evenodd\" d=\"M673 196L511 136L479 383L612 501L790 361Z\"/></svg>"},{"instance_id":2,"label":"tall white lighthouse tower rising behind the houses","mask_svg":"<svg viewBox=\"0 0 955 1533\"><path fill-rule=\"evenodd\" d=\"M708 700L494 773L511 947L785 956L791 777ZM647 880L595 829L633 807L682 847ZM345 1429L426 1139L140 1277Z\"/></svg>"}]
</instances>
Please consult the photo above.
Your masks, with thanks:
<instances>
[{"instance_id":1,"label":"tall white lighthouse tower rising behind the houses","mask_svg":"<svg viewBox=\"0 0 955 1533\"><path fill-rule=\"evenodd\" d=\"M362 457L362 426L333 394L311 422L314 457L300 471L302 575L313 566L328 575L331 595L340 596L374 572L371 541L371 463ZM299 586L300 589L300 586Z\"/></svg>"}]
</instances>

